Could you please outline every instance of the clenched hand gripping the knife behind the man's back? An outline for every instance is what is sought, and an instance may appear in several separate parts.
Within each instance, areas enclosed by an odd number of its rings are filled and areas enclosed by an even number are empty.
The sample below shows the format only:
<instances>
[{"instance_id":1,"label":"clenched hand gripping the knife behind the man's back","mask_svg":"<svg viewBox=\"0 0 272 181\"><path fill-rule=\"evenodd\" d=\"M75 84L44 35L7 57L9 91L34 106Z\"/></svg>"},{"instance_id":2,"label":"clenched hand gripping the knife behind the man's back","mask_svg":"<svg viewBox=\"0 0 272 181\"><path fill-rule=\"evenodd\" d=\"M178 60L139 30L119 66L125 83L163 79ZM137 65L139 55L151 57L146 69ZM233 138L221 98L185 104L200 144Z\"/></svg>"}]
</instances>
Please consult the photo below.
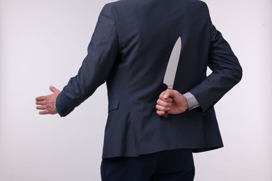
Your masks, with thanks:
<instances>
[{"instance_id":1,"label":"clenched hand gripping the knife behind the man's back","mask_svg":"<svg viewBox=\"0 0 272 181\"><path fill-rule=\"evenodd\" d=\"M167 116L168 113L179 114L188 109L188 102L178 91L167 89L160 94L157 100L157 114L158 116Z\"/></svg>"}]
</instances>

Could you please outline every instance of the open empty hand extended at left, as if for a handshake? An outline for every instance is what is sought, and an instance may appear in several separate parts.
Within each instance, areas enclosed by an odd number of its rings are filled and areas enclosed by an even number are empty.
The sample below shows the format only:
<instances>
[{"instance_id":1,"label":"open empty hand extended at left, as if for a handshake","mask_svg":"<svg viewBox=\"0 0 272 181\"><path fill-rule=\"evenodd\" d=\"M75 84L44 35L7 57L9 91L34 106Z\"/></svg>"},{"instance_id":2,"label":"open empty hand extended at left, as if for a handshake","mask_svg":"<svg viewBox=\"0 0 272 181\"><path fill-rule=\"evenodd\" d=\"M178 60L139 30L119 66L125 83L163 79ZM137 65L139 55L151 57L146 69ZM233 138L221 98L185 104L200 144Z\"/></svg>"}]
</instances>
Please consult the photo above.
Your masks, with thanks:
<instances>
[{"instance_id":1,"label":"open empty hand extended at left, as if for a handshake","mask_svg":"<svg viewBox=\"0 0 272 181\"><path fill-rule=\"evenodd\" d=\"M40 110L39 114L56 114L57 111L54 108L56 97L59 95L61 91L56 89L54 86L50 86L50 91L53 93L50 95L44 95L40 97L36 97L36 109Z\"/></svg>"}]
</instances>

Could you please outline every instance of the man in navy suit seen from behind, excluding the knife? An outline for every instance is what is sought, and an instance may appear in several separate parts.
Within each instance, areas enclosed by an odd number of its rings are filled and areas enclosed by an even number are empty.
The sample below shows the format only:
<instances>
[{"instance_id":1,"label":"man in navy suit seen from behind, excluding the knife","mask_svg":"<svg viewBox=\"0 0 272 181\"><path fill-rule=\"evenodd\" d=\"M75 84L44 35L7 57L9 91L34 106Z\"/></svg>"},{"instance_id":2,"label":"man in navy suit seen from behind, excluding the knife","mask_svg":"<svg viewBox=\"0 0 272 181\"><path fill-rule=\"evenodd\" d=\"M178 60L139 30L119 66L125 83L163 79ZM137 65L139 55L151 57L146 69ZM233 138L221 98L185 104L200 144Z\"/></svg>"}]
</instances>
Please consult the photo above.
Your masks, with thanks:
<instances>
[{"instance_id":1,"label":"man in navy suit seen from behind, excluding the knife","mask_svg":"<svg viewBox=\"0 0 272 181\"><path fill-rule=\"evenodd\" d=\"M169 90L163 77L179 37ZM241 76L204 2L123 0L101 11L78 74L61 92L50 87L53 94L37 97L36 104L40 114L67 116L106 82L102 179L193 180L192 152L223 146L213 105Z\"/></svg>"}]
</instances>

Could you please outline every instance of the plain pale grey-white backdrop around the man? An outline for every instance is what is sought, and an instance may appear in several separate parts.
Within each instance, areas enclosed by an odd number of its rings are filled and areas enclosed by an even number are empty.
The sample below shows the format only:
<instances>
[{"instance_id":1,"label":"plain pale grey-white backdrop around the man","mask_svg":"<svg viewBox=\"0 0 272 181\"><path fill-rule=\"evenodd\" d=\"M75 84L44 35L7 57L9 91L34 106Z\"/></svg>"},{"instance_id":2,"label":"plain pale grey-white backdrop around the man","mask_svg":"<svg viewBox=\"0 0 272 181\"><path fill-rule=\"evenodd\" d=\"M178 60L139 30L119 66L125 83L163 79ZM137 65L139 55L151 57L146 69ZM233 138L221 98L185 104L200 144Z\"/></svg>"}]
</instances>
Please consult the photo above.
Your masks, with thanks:
<instances>
[{"instance_id":1,"label":"plain pale grey-white backdrop around the man","mask_svg":"<svg viewBox=\"0 0 272 181\"><path fill-rule=\"evenodd\" d=\"M100 180L105 85L66 118L35 97L80 67L106 0L0 0L0 180ZM272 1L206 0L243 79L216 104L225 148L195 154L196 181L272 180Z\"/></svg>"}]
</instances>

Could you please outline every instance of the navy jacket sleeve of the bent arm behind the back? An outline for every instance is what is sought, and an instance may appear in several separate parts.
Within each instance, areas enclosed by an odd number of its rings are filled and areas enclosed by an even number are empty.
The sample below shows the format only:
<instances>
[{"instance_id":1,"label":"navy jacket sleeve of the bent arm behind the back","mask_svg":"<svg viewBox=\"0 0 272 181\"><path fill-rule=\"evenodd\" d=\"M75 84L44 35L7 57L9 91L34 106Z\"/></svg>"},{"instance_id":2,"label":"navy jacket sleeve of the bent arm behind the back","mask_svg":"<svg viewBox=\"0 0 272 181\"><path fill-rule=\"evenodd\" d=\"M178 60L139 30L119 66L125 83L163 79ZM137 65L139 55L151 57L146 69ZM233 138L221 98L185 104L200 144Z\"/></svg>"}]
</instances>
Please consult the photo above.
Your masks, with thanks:
<instances>
[{"instance_id":1,"label":"navy jacket sleeve of the bent arm behind the back","mask_svg":"<svg viewBox=\"0 0 272 181\"><path fill-rule=\"evenodd\" d=\"M212 23L208 66L212 73L190 90L203 112L213 107L242 77L242 68L238 59Z\"/></svg>"}]
</instances>

